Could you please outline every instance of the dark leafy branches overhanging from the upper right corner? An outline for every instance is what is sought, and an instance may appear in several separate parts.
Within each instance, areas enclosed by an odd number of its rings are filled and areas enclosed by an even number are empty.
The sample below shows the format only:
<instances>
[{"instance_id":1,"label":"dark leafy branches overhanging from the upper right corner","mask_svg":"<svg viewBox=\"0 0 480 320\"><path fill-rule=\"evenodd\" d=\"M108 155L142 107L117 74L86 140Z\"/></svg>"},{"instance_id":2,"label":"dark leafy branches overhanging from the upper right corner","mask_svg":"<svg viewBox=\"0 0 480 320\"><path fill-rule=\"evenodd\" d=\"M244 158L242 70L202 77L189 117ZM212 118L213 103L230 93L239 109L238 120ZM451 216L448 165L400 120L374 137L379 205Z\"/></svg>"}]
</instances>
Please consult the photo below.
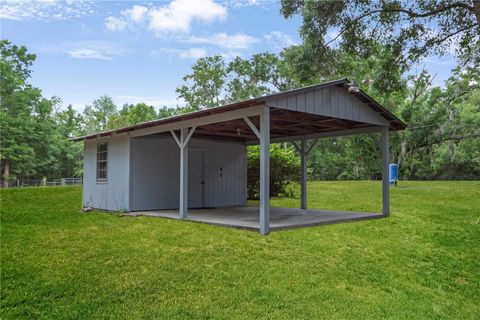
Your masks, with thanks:
<instances>
[{"instance_id":1,"label":"dark leafy branches overhanging from the upper right corner","mask_svg":"<svg viewBox=\"0 0 480 320\"><path fill-rule=\"evenodd\" d=\"M339 53L354 59L382 58L405 72L432 54L453 53L463 65L480 62L480 1L302 1L282 0L285 18L300 15L302 68L332 77L341 72ZM379 83L388 88L389 75Z\"/></svg>"}]
</instances>

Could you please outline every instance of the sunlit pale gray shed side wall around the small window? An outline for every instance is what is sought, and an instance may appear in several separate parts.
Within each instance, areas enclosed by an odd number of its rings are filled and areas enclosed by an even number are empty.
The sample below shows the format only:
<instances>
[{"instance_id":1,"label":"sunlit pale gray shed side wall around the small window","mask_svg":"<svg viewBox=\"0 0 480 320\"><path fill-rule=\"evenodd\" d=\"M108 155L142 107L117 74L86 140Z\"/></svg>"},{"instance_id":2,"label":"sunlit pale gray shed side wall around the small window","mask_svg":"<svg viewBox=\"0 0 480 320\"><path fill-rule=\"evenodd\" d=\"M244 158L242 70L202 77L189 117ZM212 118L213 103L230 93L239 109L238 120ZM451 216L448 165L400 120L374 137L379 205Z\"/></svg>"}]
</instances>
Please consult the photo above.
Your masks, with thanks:
<instances>
[{"instance_id":1,"label":"sunlit pale gray shed side wall around the small window","mask_svg":"<svg viewBox=\"0 0 480 320\"><path fill-rule=\"evenodd\" d=\"M96 181L97 143L108 141L107 182ZM129 209L130 137L85 142L83 206L106 210Z\"/></svg>"}]
</instances>

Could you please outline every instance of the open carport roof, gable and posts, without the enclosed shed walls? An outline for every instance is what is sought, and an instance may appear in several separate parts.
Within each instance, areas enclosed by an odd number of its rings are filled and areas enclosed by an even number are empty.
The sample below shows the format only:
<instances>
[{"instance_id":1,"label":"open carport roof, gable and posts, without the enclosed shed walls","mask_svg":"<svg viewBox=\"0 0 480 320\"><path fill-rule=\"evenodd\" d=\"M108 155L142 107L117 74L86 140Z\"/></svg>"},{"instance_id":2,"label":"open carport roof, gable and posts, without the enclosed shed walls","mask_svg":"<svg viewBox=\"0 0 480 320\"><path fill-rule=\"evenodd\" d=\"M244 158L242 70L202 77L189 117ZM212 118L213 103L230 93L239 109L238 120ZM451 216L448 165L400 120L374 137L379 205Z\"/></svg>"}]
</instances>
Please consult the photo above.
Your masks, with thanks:
<instances>
[{"instance_id":1,"label":"open carport roof, gable and posts, without the enclosed shed walls","mask_svg":"<svg viewBox=\"0 0 480 320\"><path fill-rule=\"evenodd\" d=\"M373 98L359 90L348 79L325 82L287 92L241 101L217 108L205 109L184 115L173 116L141 123L138 125L111 130L99 134L79 137L75 140L102 139L115 135L128 134L130 139L142 136L171 136L180 153L180 183L178 218L189 219L189 170L188 155L191 139L206 139L240 143L244 145L260 145L260 204L258 209L258 229L262 235L270 231L270 156L271 143L293 142L301 155L301 204L300 209L292 210L288 216L315 215L307 210L306 181L307 155L315 141L320 138L340 137L359 134L380 133L376 140L382 152L382 202L381 215L338 212L339 219L313 219L309 224L335 223L340 220L365 219L388 216L389 209L389 131L402 130L406 125L391 112L382 107ZM373 137L373 136L372 136ZM308 142L310 145L308 145ZM277 210L277 209L275 209ZM300 211L299 211L300 210ZM302 211L304 210L304 211ZM228 218L228 208L217 212L217 220L201 218L199 210L191 220L215 223L221 219L222 213ZM231 209L231 214L241 214L241 210ZM243 212L252 212L252 209ZM278 210L275 214L278 214ZM328 212L332 214L335 212ZM134 213L135 214L135 213ZM144 212L146 215L164 217L177 216L176 211ZM311 216L309 216L311 217ZM222 224L222 223L216 223ZM305 223L307 224L307 223ZM227 225L235 225L230 223ZM241 223L239 227L243 227ZM295 226L292 222L290 226ZM288 226L286 226L288 227Z\"/></svg>"}]
</instances>

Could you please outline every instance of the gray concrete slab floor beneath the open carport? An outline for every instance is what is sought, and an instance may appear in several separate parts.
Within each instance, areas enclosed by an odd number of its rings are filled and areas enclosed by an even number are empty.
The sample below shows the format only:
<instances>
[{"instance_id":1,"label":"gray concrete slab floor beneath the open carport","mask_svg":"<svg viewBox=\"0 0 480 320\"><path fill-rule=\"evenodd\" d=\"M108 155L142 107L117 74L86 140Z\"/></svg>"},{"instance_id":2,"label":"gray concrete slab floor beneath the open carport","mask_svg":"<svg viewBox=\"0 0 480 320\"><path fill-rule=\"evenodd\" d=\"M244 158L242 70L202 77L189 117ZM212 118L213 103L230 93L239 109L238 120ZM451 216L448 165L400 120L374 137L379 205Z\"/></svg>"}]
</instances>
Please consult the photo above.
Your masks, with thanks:
<instances>
[{"instance_id":1,"label":"gray concrete slab floor beneath the open carport","mask_svg":"<svg viewBox=\"0 0 480 320\"><path fill-rule=\"evenodd\" d=\"M180 219L178 210L138 211L128 212L124 215ZM270 208L270 230L275 231L384 217L386 217L384 214L367 212L272 207ZM258 207L188 209L187 220L258 231L259 210Z\"/></svg>"}]
</instances>

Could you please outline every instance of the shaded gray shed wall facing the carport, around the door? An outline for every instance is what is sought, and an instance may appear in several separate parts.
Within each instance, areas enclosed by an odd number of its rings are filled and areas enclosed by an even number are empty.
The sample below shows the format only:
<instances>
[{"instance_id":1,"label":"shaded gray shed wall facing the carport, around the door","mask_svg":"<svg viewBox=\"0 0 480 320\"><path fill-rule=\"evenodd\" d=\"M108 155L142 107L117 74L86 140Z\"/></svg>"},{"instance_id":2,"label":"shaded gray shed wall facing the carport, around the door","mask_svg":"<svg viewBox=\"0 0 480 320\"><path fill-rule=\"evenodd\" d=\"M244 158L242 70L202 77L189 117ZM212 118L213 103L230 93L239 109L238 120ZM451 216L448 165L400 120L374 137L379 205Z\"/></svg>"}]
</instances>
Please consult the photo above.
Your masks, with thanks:
<instances>
[{"instance_id":1,"label":"shaded gray shed wall facing the carport, around the door","mask_svg":"<svg viewBox=\"0 0 480 320\"><path fill-rule=\"evenodd\" d=\"M132 206L130 210L177 209L180 179L180 152L177 144L170 137L142 137L132 139L131 145ZM246 146L192 139L189 148L205 150L203 206L245 205L247 198ZM190 156L189 162L191 159ZM192 168L193 164L190 163L189 167ZM220 177L220 167L223 169L222 177ZM189 198L193 199L190 196ZM191 205L192 202L189 201L189 206Z\"/></svg>"}]
</instances>

